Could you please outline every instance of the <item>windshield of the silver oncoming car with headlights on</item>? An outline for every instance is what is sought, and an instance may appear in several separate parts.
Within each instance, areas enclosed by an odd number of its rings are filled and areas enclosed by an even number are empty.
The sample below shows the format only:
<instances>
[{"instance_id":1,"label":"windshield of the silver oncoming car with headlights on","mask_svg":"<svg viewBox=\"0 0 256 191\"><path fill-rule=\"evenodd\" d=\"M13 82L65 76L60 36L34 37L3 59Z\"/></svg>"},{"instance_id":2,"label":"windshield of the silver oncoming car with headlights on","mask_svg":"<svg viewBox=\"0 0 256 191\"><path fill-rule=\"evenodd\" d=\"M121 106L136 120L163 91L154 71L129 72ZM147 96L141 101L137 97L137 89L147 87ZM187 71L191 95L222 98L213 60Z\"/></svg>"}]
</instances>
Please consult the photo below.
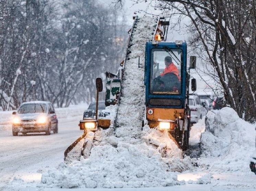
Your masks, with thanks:
<instances>
[{"instance_id":1,"label":"windshield of the silver oncoming car with headlights on","mask_svg":"<svg viewBox=\"0 0 256 191\"><path fill-rule=\"evenodd\" d=\"M20 107L18 113L46 113L46 104L24 104Z\"/></svg>"}]
</instances>

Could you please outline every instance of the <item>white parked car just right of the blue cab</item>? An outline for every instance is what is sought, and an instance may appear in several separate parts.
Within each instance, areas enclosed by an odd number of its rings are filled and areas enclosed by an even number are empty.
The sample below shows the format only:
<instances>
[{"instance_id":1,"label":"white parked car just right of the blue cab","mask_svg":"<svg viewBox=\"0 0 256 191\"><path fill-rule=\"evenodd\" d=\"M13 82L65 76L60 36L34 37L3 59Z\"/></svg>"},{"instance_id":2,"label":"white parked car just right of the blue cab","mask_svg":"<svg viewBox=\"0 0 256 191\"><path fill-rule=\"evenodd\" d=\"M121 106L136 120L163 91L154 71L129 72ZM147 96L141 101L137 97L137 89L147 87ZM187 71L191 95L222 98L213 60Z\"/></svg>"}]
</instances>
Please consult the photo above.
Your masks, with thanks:
<instances>
[{"instance_id":1,"label":"white parked car just right of the blue cab","mask_svg":"<svg viewBox=\"0 0 256 191\"><path fill-rule=\"evenodd\" d=\"M206 115L207 110L201 105L201 101L197 95L189 96L189 108L190 108L190 120L191 123L197 123L199 119L202 119Z\"/></svg>"}]
</instances>

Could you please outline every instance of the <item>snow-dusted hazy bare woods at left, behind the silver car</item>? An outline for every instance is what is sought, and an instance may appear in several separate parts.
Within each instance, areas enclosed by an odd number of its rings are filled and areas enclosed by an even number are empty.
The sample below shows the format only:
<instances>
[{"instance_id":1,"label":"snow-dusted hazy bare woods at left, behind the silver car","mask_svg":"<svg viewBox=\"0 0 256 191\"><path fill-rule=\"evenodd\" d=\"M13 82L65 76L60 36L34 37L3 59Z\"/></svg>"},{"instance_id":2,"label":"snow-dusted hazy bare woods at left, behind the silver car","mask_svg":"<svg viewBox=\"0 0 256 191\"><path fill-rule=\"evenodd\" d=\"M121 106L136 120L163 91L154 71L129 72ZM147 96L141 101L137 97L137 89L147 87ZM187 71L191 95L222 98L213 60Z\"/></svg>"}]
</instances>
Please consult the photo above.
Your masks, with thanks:
<instances>
[{"instance_id":1,"label":"snow-dusted hazy bare woods at left, behind the silver car","mask_svg":"<svg viewBox=\"0 0 256 191\"><path fill-rule=\"evenodd\" d=\"M93 0L0 0L0 109L29 100L91 101L94 79L116 70L126 26ZM110 48L111 47L111 48ZM118 61L117 61L118 60Z\"/></svg>"}]
</instances>

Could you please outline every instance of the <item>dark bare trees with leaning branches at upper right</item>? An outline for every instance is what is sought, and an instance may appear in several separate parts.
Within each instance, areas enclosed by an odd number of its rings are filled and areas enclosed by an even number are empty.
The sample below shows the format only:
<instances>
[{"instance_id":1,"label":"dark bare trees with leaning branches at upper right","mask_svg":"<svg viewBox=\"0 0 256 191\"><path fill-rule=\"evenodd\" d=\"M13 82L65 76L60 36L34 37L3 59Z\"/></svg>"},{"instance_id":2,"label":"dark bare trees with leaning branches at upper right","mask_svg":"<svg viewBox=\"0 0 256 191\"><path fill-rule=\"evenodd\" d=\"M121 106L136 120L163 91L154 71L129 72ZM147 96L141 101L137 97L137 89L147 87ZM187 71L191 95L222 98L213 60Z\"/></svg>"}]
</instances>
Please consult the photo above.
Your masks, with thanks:
<instances>
[{"instance_id":1,"label":"dark bare trees with leaning branches at upper right","mask_svg":"<svg viewBox=\"0 0 256 191\"><path fill-rule=\"evenodd\" d=\"M138 0L137 2L144 2ZM256 120L256 3L254 0L150 0L162 14L190 18L190 43L210 63L227 103L240 117ZM206 55L206 56L205 56ZM208 68L209 69L209 68Z\"/></svg>"}]
</instances>

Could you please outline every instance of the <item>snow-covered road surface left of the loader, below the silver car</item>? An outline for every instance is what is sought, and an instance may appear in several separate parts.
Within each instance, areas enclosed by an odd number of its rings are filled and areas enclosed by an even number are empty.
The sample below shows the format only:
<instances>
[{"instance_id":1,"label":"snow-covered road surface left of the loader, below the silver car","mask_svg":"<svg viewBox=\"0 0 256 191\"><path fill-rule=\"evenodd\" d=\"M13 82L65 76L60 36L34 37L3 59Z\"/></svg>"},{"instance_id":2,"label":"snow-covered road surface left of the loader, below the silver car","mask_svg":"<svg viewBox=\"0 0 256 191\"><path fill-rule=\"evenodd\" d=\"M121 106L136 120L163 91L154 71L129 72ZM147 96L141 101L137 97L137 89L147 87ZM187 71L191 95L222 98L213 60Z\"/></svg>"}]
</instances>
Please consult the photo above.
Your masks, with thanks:
<instances>
[{"instance_id":1,"label":"snow-covered road surface left of the loader, below the silver car","mask_svg":"<svg viewBox=\"0 0 256 191\"><path fill-rule=\"evenodd\" d=\"M59 119L59 133L12 136L11 127L0 128L0 187L14 177L40 182L41 173L63 162L65 149L82 132L78 128L80 116Z\"/></svg>"}]
</instances>

